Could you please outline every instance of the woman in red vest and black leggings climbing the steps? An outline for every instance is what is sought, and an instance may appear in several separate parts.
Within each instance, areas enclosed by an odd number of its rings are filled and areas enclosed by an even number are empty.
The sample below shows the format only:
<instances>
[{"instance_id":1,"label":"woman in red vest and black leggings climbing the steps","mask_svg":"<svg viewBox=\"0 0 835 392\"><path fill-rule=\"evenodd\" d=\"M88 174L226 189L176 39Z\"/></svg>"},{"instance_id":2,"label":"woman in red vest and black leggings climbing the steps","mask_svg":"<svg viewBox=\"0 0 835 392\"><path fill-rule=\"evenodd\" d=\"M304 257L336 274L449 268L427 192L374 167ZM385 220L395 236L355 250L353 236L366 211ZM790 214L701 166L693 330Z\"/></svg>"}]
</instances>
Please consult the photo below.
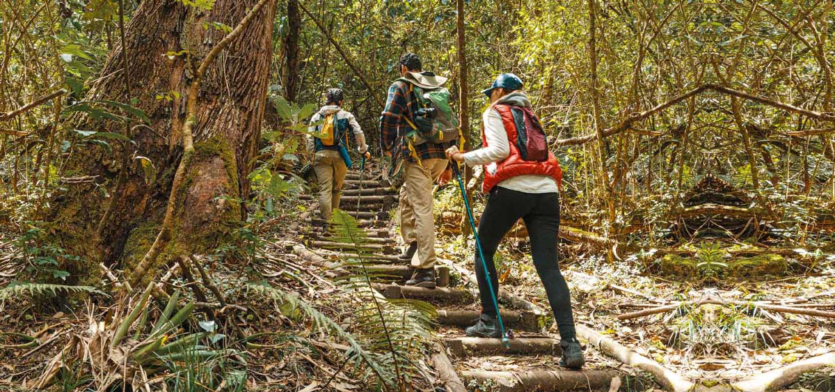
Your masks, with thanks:
<instances>
[{"instance_id":1,"label":"woman in red vest and black leggings climbing the steps","mask_svg":"<svg viewBox=\"0 0 835 392\"><path fill-rule=\"evenodd\" d=\"M575 338L574 318L568 285L559 272L557 242L559 232L559 186L562 171L548 150L542 126L522 91L522 80L514 74L501 74L483 91L490 105L482 115L483 148L463 152L447 150L449 159L466 165L484 165L482 190L487 206L478 222L484 262L498 298L498 276L493 255L507 232L521 218L528 229L531 255L554 312L563 350L562 364L579 369L584 364ZM478 322L466 329L468 336L501 338L496 305L490 295L482 262L475 255L475 272L482 313Z\"/></svg>"}]
</instances>

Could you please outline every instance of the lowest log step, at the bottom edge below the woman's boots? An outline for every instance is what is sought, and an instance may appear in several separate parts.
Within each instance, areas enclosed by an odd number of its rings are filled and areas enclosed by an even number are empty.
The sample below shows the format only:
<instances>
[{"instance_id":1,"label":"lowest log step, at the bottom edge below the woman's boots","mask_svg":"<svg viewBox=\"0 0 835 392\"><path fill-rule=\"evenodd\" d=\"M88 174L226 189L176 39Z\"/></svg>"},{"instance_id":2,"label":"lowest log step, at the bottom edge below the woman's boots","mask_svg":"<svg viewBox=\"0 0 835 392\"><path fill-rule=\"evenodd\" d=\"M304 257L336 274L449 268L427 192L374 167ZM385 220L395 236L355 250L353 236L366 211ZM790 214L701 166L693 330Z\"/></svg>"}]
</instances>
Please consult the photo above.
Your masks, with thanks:
<instances>
[{"instance_id":1,"label":"lowest log step, at the bottom edge below the woman's boots","mask_svg":"<svg viewBox=\"0 0 835 392\"><path fill-rule=\"evenodd\" d=\"M612 379L621 374L615 370L535 369L524 372L491 372L465 370L461 377L467 383L492 381L501 392L607 389Z\"/></svg>"}]
</instances>

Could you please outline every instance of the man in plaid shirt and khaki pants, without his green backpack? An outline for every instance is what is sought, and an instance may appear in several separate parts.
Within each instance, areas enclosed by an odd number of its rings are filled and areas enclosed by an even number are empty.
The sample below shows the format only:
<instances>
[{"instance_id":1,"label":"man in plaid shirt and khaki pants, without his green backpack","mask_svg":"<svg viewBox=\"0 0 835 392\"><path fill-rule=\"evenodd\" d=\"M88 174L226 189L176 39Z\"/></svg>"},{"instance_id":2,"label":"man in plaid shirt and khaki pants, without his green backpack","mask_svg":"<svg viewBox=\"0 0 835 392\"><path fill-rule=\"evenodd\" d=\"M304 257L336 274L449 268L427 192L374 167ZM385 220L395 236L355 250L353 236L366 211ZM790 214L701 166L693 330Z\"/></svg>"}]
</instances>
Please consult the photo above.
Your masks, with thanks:
<instances>
[{"instance_id":1,"label":"man in plaid shirt and khaki pants, without his green backpack","mask_svg":"<svg viewBox=\"0 0 835 392\"><path fill-rule=\"evenodd\" d=\"M402 160L404 184L400 187L400 234L405 244L399 256L403 262L411 262L415 270L406 281L409 286L435 288L435 221L433 214L434 182L445 184L452 178L452 166L446 149L457 140L444 143L426 142L414 145L414 153L404 142L403 135L412 130L413 113L419 105L410 84L423 89L433 89L447 81L443 76L423 71L423 64L415 53L400 58L400 75L388 88L386 109L380 117L380 147L383 154L392 156L392 165Z\"/></svg>"}]
</instances>

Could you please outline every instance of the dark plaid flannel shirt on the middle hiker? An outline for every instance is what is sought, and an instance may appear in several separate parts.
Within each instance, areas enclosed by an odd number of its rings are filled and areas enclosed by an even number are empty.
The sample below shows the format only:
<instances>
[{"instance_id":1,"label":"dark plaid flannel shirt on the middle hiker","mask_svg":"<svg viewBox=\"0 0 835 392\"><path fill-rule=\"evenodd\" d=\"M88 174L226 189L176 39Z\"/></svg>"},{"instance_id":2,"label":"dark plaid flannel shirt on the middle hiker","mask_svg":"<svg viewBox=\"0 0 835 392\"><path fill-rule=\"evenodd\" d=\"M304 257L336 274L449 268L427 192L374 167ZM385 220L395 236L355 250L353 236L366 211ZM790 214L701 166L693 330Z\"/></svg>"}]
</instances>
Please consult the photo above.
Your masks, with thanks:
<instances>
[{"instance_id":1,"label":"dark plaid flannel shirt on the middle hiker","mask_svg":"<svg viewBox=\"0 0 835 392\"><path fill-rule=\"evenodd\" d=\"M432 74L424 72L423 74ZM403 135L412 130L412 127L403 120L413 120L412 114L420 109L414 94L409 92L409 84L402 80L396 80L388 88L388 99L386 109L380 117L380 148L383 151L391 151L392 157L399 156L410 162L416 161L409 153L408 145L403 142ZM456 140L445 143L426 142L422 145L415 145L417 157L421 160L438 158L447 159L446 151L449 147L456 145ZM399 151L398 151L399 150Z\"/></svg>"}]
</instances>

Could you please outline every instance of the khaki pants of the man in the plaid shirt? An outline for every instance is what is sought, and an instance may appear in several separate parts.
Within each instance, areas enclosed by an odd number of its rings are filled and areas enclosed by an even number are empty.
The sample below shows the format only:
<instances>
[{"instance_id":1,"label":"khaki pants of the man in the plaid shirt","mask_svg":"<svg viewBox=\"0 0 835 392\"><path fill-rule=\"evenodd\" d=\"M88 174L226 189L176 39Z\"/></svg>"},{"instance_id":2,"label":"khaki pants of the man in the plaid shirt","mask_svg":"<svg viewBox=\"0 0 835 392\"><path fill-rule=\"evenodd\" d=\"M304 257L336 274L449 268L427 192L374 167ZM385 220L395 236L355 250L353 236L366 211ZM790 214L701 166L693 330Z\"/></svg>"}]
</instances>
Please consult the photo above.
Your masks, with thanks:
<instances>
[{"instance_id":1,"label":"khaki pants of the man in the plaid shirt","mask_svg":"<svg viewBox=\"0 0 835 392\"><path fill-rule=\"evenodd\" d=\"M403 162L403 186L400 188L400 234L406 246L417 242L417 252L412 266L435 267L435 219L432 188L448 165L448 160L423 160L423 166L415 162Z\"/></svg>"}]
</instances>

